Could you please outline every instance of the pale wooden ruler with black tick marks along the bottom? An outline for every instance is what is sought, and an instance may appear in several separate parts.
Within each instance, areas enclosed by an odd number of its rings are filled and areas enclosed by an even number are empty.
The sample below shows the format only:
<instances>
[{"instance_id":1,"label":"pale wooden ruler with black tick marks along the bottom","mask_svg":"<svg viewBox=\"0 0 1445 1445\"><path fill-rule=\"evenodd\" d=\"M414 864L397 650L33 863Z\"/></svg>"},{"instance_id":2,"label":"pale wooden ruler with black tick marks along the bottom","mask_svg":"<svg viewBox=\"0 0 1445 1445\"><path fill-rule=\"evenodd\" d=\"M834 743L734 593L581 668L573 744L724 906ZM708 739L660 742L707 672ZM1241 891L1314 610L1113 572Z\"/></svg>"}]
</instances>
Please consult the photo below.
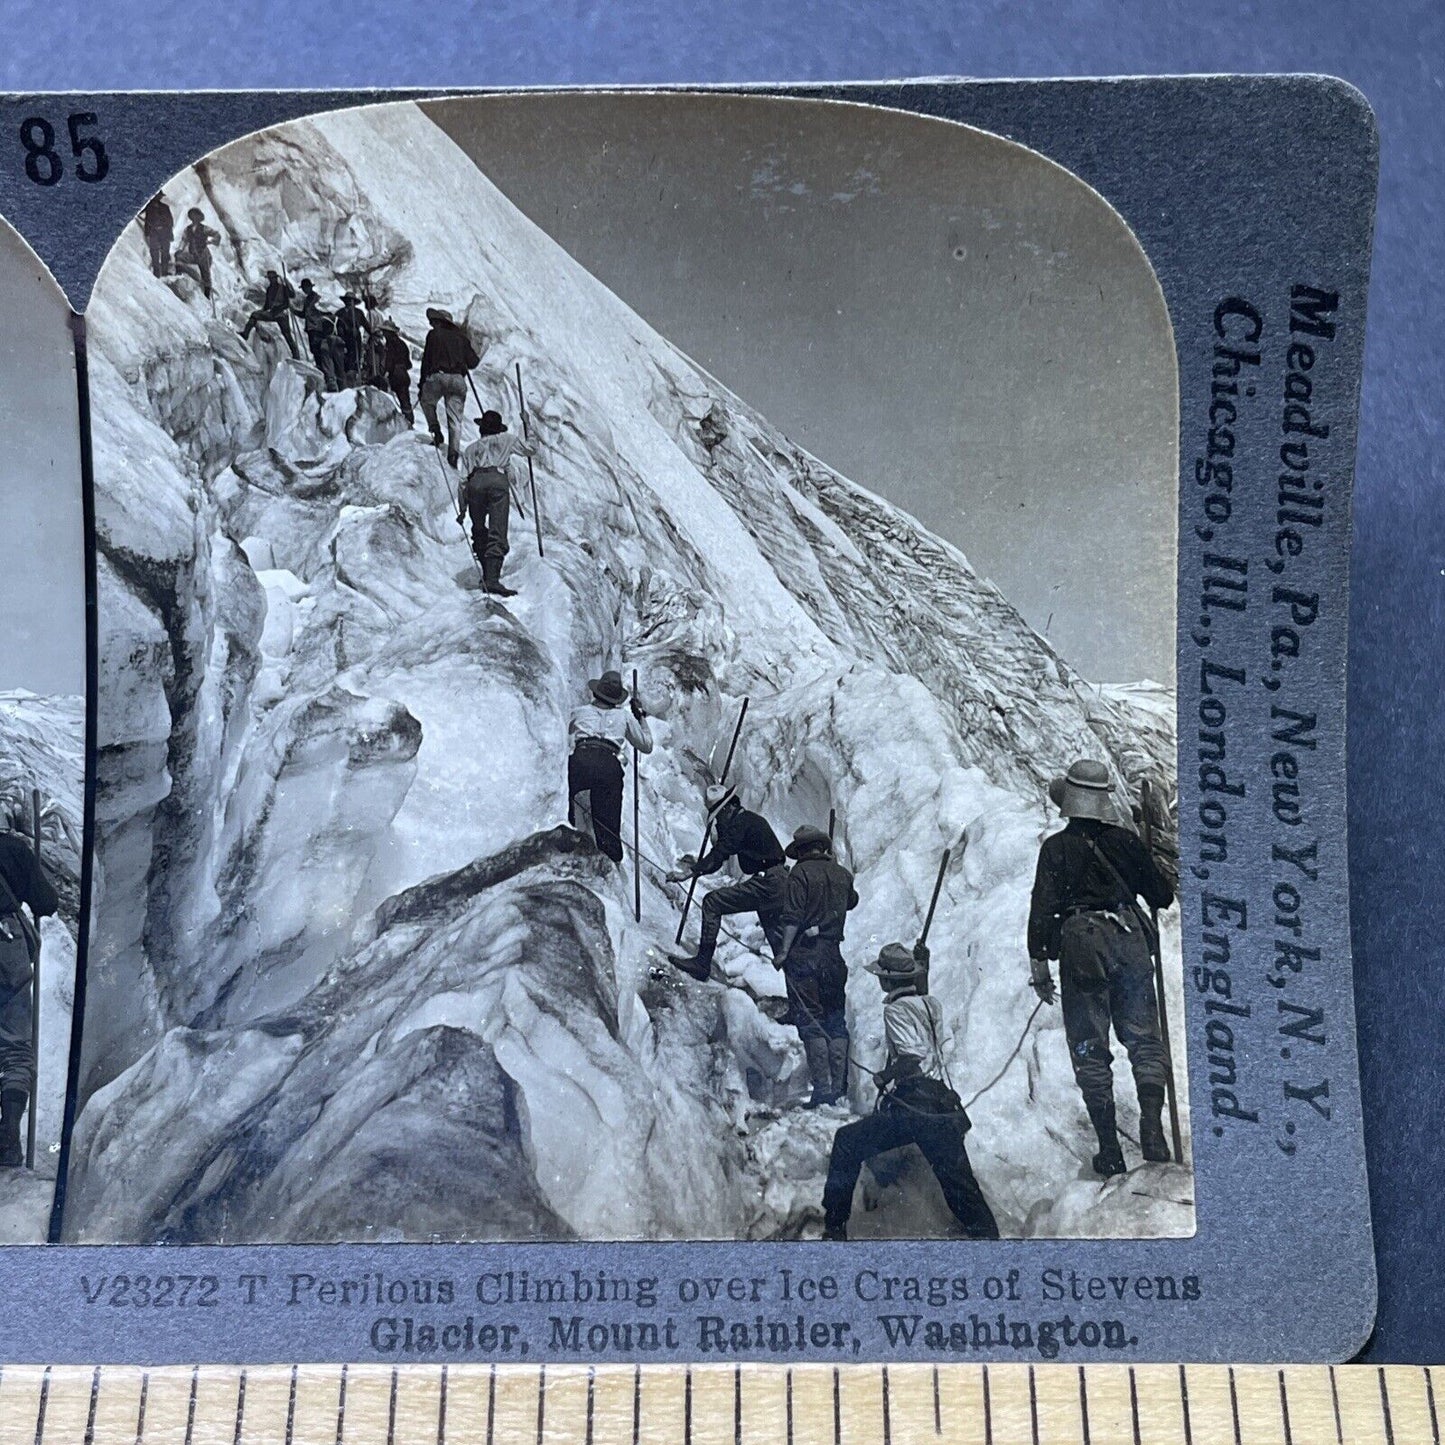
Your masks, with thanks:
<instances>
[{"instance_id":1,"label":"pale wooden ruler with black tick marks along the bottom","mask_svg":"<svg viewBox=\"0 0 1445 1445\"><path fill-rule=\"evenodd\" d=\"M0 1445L1439 1445L1416 1366L6 1366Z\"/></svg>"}]
</instances>

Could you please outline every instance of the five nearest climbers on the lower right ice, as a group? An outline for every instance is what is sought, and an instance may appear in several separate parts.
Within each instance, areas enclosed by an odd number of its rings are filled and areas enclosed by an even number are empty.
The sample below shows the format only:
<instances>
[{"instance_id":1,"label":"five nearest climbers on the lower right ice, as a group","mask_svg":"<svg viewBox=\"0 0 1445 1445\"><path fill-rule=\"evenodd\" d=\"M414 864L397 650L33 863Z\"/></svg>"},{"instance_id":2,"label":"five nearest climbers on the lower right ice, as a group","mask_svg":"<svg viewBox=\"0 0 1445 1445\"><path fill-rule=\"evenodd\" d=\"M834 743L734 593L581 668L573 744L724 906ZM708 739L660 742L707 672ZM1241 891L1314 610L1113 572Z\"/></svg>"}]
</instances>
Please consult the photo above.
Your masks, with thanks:
<instances>
[{"instance_id":1,"label":"five nearest climbers on the lower right ice, as a group","mask_svg":"<svg viewBox=\"0 0 1445 1445\"><path fill-rule=\"evenodd\" d=\"M568 819L575 825L578 799L587 795L600 850L621 863L624 750L631 746L650 753L653 738L646 711L618 672L604 672L588 688L590 701L571 721ZM1144 1162L1172 1157L1162 1120L1170 1064L1155 991L1157 935L1146 909L1168 907L1173 886L1150 848L1111 821L1113 786L1107 766L1087 759L1051 785L1049 798L1066 822L1040 845L1027 931L1029 983L1039 1007L1062 994L1065 1039L1098 1137L1092 1168L1101 1178L1127 1168L1116 1123L1111 1030L1133 1068ZM740 880L704 894L696 949L669 957L682 972L708 981L722 920L756 915L773 965L783 974L785 1017L803 1045L812 1082L805 1107L845 1101L850 1065L857 1062L850 1053L848 968L842 958L847 915L858 903L853 874L835 858L828 832L805 824L783 847L767 819L744 808L727 783L707 788L705 808L711 844L701 857L679 860L666 880L695 883L728 864ZM942 867L938 881L941 886ZM1059 962L1058 991L1052 959ZM824 1185L824 1238L847 1238L863 1165L906 1144L918 1146L928 1160L959 1230L971 1238L998 1237L968 1162L971 1124L948 1078L942 1012L928 991L929 964L920 938L912 948L889 944L866 965L883 988L887 1056L873 1074L874 1111L834 1134Z\"/></svg>"}]
</instances>

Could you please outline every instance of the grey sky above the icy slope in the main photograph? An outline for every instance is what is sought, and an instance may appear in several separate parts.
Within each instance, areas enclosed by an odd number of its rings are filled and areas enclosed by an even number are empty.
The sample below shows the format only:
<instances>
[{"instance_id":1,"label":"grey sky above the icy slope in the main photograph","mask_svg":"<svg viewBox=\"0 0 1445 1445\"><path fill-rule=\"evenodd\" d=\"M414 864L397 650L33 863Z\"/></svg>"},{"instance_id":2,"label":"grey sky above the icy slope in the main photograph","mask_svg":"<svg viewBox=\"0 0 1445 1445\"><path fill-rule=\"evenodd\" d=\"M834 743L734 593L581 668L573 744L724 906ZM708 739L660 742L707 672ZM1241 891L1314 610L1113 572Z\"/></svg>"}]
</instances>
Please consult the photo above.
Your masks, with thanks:
<instances>
[{"instance_id":1,"label":"grey sky above the icy slope in the main photograph","mask_svg":"<svg viewBox=\"0 0 1445 1445\"><path fill-rule=\"evenodd\" d=\"M863 105L425 108L655 329L954 542L1085 676L1173 681L1173 342L1137 243L1082 182Z\"/></svg>"}]
</instances>

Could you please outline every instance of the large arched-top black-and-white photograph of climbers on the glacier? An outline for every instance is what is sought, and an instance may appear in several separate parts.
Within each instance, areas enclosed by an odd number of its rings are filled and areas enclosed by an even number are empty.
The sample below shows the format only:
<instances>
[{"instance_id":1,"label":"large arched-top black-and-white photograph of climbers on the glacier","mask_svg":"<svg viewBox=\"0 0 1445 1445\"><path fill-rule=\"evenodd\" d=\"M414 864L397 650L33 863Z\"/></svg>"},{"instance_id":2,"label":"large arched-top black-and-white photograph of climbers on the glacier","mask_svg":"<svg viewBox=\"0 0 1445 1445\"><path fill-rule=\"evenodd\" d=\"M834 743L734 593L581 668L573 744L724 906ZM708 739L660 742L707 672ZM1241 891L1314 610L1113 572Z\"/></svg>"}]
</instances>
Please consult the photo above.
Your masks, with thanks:
<instances>
[{"instance_id":1,"label":"large arched-top black-and-white photograph of climbers on the glacier","mask_svg":"<svg viewBox=\"0 0 1445 1445\"><path fill-rule=\"evenodd\" d=\"M66 1241L1194 1234L1178 373L1095 191L392 103L173 176L87 325Z\"/></svg>"}]
</instances>

